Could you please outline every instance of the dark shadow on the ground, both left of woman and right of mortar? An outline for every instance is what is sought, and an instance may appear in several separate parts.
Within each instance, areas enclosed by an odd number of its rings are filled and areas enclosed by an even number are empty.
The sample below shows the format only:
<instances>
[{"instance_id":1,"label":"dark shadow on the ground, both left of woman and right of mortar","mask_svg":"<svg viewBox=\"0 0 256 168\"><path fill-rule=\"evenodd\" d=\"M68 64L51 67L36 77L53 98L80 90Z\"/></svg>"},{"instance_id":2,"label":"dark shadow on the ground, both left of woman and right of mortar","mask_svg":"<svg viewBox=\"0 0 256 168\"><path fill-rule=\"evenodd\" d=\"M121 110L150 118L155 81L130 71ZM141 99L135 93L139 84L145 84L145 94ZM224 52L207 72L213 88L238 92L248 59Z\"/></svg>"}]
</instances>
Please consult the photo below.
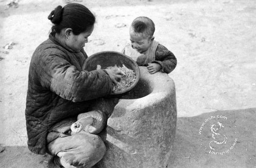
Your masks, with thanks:
<instances>
[{"instance_id":1,"label":"dark shadow on the ground, both left of woman and right of mortar","mask_svg":"<svg viewBox=\"0 0 256 168\"><path fill-rule=\"evenodd\" d=\"M198 137L202 122L222 115L234 121L239 131L234 148L224 155L213 155L200 148ZM216 111L177 120L173 153L168 168L253 168L256 165L256 108ZM206 127L206 124L203 126ZM201 135L200 135L201 136ZM208 137L210 138L210 136ZM228 136L228 140L232 139ZM48 155L36 155L27 147L1 147L3 168L47 168Z\"/></svg>"}]
</instances>

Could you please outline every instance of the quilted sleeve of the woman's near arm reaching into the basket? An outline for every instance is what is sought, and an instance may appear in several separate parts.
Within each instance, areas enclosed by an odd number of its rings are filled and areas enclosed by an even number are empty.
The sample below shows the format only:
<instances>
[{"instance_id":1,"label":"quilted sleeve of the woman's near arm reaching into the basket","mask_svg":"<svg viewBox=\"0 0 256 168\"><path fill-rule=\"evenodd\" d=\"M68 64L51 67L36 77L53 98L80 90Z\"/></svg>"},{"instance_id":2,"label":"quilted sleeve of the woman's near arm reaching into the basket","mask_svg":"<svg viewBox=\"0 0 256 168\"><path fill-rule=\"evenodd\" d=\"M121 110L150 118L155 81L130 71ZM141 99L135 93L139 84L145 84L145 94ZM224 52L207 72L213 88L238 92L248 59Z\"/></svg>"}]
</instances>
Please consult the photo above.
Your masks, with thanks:
<instances>
[{"instance_id":1,"label":"quilted sleeve of the woman's near arm reaching into the basket","mask_svg":"<svg viewBox=\"0 0 256 168\"><path fill-rule=\"evenodd\" d=\"M36 69L41 86L64 99L87 101L112 92L112 81L104 70L78 71L57 54L43 55L38 62Z\"/></svg>"}]
</instances>

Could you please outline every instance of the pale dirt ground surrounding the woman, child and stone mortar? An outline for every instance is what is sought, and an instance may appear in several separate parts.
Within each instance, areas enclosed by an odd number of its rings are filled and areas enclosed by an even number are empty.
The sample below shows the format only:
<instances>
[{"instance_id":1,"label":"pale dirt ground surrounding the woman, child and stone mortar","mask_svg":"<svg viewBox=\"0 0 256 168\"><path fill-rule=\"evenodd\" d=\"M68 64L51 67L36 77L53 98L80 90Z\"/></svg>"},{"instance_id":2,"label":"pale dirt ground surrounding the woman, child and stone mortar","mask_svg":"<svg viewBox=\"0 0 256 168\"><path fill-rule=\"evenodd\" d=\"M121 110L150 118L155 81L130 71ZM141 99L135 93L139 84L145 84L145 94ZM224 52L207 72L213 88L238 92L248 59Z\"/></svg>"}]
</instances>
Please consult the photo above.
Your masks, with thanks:
<instances>
[{"instance_id":1,"label":"pale dirt ground surrounding the woman, child and stone mortar","mask_svg":"<svg viewBox=\"0 0 256 168\"><path fill-rule=\"evenodd\" d=\"M155 40L175 54L178 64L169 76L175 81L178 119L168 168L255 167L255 0L13 1L17 4L7 7L7 0L0 0L0 167L47 167L47 155L27 149L28 67L34 49L47 39L48 14L68 2L81 3L96 16L88 55L121 51L137 16L151 18ZM238 141L228 154L212 155L200 147L198 130L213 115L237 126Z\"/></svg>"}]
</instances>

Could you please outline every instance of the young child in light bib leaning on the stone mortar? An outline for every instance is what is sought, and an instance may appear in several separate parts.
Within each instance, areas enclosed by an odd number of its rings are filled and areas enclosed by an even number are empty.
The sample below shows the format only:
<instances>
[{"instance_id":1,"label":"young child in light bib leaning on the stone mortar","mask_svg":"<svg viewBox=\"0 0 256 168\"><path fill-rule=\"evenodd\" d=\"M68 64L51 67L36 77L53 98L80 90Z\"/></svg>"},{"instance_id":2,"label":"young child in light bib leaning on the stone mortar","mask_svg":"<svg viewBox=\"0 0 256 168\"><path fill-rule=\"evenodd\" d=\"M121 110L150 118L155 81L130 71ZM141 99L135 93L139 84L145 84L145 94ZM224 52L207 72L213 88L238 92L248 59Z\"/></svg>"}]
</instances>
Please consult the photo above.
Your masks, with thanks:
<instances>
[{"instance_id":1,"label":"young child in light bib leaning on the stone mortar","mask_svg":"<svg viewBox=\"0 0 256 168\"><path fill-rule=\"evenodd\" d=\"M122 53L130 56L139 66L147 66L150 74L158 71L168 74L176 67L177 60L172 52L154 40L154 32L155 24L151 19L137 17L129 31L131 42Z\"/></svg>"}]
</instances>

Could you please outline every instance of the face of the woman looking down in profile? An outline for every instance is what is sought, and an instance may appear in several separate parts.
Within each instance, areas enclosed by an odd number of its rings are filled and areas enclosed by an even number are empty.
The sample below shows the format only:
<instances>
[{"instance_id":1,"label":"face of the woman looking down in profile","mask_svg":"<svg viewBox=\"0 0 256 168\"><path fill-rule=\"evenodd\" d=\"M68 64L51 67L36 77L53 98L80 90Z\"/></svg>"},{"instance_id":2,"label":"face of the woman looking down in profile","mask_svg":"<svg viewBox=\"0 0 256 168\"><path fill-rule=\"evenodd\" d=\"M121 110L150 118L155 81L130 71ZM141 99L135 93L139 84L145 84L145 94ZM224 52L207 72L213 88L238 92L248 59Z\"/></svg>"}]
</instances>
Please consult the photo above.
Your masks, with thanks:
<instances>
[{"instance_id":1,"label":"face of the woman looking down in profile","mask_svg":"<svg viewBox=\"0 0 256 168\"><path fill-rule=\"evenodd\" d=\"M88 37L92 34L93 30L94 26L78 35L74 35L73 32L71 32L66 41L66 45L75 52L79 52L85 46L85 43L88 42Z\"/></svg>"}]
</instances>

